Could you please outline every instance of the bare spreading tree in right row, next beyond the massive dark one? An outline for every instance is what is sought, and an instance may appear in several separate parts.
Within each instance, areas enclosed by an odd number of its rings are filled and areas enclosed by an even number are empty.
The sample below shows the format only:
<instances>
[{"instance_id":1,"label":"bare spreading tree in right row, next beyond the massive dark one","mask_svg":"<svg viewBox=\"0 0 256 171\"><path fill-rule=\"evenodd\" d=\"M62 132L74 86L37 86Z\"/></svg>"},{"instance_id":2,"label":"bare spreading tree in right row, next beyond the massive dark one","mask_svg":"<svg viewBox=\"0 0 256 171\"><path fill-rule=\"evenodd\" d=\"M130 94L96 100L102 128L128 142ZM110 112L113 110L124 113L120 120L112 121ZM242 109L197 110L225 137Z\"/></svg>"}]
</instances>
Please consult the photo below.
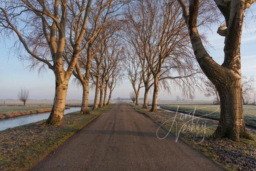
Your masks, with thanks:
<instances>
[{"instance_id":1,"label":"bare spreading tree in right row, next beyond the massive dark one","mask_svg":"<svg viewBox=\"0 0 256 171\"><path fill-rule=\"evenodd\" d=\"M193 66L194 59L185 31L186 25L181 19L181 10L175 0L135 1L127 8L127 39L136 49L141 66L145 68L142 70L143 75L147 75L147 79L143 76L145 92L150 87L148 80L151 80L152 74L154 91L150 111L157 112L161 80L168 91L169 82L179 83L179 88L184 88L182 84L188 83L189 77L200 71ZM150 73L145 74L147 67ZM168 81L170 79L173 80Z\"/></svg>"}]
</instances>

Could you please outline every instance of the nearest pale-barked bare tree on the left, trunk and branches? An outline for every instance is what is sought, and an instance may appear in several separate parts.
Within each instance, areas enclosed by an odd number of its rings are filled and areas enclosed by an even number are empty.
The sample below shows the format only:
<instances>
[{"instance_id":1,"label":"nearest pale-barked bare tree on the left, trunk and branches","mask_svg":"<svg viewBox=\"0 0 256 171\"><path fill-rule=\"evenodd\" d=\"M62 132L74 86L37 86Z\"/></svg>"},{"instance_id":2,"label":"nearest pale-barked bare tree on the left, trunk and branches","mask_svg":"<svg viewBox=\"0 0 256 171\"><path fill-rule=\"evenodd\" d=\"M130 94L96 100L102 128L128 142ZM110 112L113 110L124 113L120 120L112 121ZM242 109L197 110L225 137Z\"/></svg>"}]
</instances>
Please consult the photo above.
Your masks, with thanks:
<instances>
[{"instance_id":1,"label":"nearest pale-barked bare tree on the left, trunk and branches","mask_svg":"<svg viewBox=\"0 0 256 171\"><path fill-rule=\"evenodd\" d=\"M0 1L0 33L5 37L13 33L18 38L13 48L21 53L19 56L32 61L32 66L42 63L39 68L47 66L55 75L54 103L45 124L62 123L68 82L87 45L80 46L91 3L92 0ZM64 67L67 42L70 60Z\"/></svg>"}]
</instances>

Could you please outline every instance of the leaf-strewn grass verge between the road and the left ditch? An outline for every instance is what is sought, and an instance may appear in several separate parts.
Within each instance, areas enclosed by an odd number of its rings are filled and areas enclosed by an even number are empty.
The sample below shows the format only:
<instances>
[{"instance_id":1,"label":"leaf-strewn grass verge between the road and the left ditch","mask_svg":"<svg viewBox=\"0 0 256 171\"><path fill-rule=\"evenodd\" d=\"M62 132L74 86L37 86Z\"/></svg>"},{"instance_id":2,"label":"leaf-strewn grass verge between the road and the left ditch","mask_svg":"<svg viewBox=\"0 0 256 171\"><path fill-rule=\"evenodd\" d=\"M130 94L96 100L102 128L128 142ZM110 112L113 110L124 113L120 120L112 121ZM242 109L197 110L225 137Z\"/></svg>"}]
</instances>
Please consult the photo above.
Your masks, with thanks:
<instances>
[{"instance_id":1,"label":"leaf-strewn grass verge between the road and the left ditch","mask_svg":"<svg viewBox=\"0 0 256 171\"><path fill-rule=\"evenodd\" d=\"M42 120L0 131L0 170L25 170L113 105L90 110L86 115L66 114L61 126L43 126Z\"/></svg>"}]
</instances>

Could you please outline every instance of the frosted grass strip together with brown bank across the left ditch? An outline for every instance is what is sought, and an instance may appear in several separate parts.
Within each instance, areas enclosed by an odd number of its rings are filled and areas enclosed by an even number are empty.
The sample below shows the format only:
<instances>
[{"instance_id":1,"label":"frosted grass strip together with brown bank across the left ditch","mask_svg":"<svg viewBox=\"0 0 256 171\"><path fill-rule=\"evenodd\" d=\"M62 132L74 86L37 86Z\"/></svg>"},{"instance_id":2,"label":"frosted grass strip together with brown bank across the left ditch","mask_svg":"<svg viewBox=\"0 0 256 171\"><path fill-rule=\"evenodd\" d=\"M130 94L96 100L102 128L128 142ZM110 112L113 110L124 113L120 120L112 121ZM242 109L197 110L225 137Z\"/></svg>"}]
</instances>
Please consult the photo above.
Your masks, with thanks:
<instances>
[{"instance_id":1,"label":"frosted grass strip together with brown bank across the left ditch","mask_svg":"<svg viewBox=\"0 0 256 171\"><path fill-rule=\"evenodd\" d=\"M65 109L69 108L69 106L65 107ZM52 106L0 106L0 119L50 112L51 110Z\"/></svg>"}]
</instances>

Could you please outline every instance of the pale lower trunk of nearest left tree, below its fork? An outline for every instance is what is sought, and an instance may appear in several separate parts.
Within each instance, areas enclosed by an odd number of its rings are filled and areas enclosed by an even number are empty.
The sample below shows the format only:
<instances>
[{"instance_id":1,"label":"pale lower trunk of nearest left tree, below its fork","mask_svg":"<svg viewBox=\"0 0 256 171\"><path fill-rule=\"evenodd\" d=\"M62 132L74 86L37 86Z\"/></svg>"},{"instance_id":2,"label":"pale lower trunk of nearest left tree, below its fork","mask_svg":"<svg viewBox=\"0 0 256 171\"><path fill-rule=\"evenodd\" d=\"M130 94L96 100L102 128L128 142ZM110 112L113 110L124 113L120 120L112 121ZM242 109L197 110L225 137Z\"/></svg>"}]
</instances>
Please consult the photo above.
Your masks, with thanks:
<instances>
[{"instance_id":1,"label":"pale lower trunk of nearest left tree, below its fork","mask_svg":"<svg viewBox=\"0 0 256 171\"><path fill-rule=\"evenodd\" d=\"M53 101L52 110L49 118L45 121L45 124L60 125L62 123L66 96L67 96L68 84L60 84L55 88L55 96Z\"/></svg>"}]
</instances>

